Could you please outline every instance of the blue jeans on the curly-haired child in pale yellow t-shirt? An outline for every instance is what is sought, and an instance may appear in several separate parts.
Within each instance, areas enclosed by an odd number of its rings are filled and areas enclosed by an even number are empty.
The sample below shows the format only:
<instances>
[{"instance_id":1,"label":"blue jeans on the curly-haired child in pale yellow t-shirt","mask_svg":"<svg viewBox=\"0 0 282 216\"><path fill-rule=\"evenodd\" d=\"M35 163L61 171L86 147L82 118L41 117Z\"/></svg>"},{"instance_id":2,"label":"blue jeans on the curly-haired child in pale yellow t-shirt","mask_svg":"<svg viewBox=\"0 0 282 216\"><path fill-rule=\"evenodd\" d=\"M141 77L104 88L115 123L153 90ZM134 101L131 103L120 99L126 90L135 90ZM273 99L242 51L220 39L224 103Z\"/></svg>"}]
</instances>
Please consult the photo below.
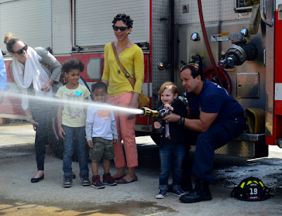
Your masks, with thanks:
<instances>
[{"instance_id":1,"label":"blue jeans on the curly-haired child in pale yellow t-shirt","mask_svg":"<svg viewBox=\"0 0 282 216\"><path fill-rule=\"evenodd\" d=\"M63 140L63 174L71 176L73 174L71 169L72 157L73 157L73 137L75 137L76 151L78 153L78 162L80 167L80 174L88 174L88 157L86 151L86 138L85 138L85 126L73 128L62 125L63 131L66 136Z\"/></svg>"}]
</instances>

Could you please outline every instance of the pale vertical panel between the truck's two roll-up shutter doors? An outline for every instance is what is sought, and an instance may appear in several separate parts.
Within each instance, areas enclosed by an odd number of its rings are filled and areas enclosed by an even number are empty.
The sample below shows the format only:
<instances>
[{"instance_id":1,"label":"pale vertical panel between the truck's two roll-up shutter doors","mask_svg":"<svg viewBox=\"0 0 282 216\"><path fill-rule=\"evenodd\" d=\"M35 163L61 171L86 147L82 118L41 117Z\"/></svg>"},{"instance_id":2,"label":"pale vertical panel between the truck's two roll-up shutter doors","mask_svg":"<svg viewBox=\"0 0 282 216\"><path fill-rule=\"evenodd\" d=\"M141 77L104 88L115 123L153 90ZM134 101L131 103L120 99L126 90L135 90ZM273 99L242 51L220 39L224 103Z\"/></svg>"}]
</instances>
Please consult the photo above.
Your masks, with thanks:
<instances>
[{"instance_id":1,"label":"pale vertical panel between the truck's two roll-up shutter doors","mask_svg":"<svg viewBox=\"0 0 282 216\"><path fill-rule=\"evenodd\" d=\"M51 1L53 53L71 53L71 1Z\"/></svg>"}]
</instances>

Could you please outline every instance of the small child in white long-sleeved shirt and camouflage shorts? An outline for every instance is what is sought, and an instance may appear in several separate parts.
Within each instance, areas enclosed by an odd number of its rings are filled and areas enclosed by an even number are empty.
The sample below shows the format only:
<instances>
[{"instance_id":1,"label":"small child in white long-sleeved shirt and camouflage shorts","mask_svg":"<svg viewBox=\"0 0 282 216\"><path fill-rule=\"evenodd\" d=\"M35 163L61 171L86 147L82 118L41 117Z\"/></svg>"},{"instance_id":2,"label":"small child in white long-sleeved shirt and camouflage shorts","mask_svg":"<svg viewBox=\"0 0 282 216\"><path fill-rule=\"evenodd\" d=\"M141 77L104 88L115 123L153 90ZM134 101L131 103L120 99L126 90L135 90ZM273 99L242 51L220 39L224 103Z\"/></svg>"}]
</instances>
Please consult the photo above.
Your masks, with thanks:
<instances>
[{"instance_id":1,"label":"small child in white long-sleeved shirt and camouflage shorts","mask_svg":"<svg viewBox=\"0 0 282 216\"><path fill-rule=\"evenodd\" d=\"M92 90L95 102L106 102L107 87L105 83L96 83ZM111 160L114 159L114 144L118 141L116 120L113 111L96 107L88 107L85 126L87 144L90 147L89 159L92 160L91 185L94 188L104 188L104 184L116 185L109 169ZM103 183L98 175L98 164L103 159Z\"/></svg>"}]
</instances>

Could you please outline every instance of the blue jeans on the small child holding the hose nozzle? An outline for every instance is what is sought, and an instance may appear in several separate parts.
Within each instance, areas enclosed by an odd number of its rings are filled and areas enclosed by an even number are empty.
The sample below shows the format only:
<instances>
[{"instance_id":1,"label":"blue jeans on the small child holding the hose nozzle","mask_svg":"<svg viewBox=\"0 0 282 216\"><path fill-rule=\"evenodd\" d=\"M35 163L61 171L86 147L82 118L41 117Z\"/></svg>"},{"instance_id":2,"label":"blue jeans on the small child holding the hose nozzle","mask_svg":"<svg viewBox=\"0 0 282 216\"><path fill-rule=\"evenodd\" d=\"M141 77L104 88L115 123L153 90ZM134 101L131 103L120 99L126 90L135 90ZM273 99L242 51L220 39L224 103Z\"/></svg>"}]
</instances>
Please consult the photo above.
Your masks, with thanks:
<instances>
[{"instance_id":1,"label":"blue jeans on the small child holding the hose nozzle","mask_svg":"<svg viewBox=\"0 0 282 216\"><path fill-rule=\"evenodd\" d=\"M159 188L165 191L168 190L168 177L172 167L173 190L179 189L182 180L182 165L185 158L185 144L173 143L171 140L166 139L159 148L159 157L161 159Z\"/></svg>"}]
</instances>

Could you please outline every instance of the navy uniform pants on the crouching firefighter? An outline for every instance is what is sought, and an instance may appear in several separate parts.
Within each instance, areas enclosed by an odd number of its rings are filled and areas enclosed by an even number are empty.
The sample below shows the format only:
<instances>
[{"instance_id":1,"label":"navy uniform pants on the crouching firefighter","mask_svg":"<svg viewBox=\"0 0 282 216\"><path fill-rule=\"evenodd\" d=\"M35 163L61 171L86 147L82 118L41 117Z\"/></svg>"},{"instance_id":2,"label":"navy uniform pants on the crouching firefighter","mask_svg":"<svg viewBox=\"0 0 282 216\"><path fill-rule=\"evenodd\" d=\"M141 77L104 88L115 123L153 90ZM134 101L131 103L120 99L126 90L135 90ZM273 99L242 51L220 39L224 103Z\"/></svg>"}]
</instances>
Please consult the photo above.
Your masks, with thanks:
<instances>
[{"instance_id":1,"label":"navy uniform pants on the crouching firefighter","mask_svg":"<svg viewBox=\"0 0 282 216\"><path fill-rule=\"evenodd\" d=\"M214 150L221 148L233 138L243 133L245 119L243 116L215 121L209 130L200 133L196 140L195 159L192 174L204 181L215 184L211 174L214 161ZM195 134L195 133L194 133Z\"/></svg>"}]
</instances>

